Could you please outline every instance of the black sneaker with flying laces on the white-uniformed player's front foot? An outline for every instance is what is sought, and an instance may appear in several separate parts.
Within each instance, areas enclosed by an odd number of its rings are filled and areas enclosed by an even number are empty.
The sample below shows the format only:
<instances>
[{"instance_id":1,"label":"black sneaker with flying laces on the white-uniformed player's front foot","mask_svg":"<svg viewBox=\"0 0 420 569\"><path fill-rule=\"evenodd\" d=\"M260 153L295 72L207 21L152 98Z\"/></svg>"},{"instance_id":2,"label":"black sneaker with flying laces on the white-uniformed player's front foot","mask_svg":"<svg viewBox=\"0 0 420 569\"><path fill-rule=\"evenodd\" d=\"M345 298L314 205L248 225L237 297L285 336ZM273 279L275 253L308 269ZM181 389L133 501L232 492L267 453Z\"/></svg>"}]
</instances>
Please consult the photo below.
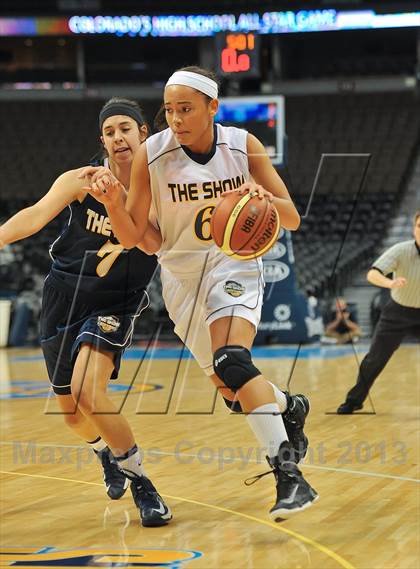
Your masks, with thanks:
<instances>
[{"instance_id":1,"label":"black sneaker with flying laces on the white-uniformed player's front foot","mask_svg":"<svg viewBox=\"0 0 420 569\"><path fill-rule=\"evenodd\" d=\"M301 471L293 462L295 452L289 441L284 441L279 448L277 456L269 458L268 464L272 470L258 474L245 480L245 484L250 486L263 476L274 473L276 478L277 498L276 503L271 508L269 516L275 522L287 520L294 514L309 508L318 494L303 478Z\"/></svg>"}]
</instances>

